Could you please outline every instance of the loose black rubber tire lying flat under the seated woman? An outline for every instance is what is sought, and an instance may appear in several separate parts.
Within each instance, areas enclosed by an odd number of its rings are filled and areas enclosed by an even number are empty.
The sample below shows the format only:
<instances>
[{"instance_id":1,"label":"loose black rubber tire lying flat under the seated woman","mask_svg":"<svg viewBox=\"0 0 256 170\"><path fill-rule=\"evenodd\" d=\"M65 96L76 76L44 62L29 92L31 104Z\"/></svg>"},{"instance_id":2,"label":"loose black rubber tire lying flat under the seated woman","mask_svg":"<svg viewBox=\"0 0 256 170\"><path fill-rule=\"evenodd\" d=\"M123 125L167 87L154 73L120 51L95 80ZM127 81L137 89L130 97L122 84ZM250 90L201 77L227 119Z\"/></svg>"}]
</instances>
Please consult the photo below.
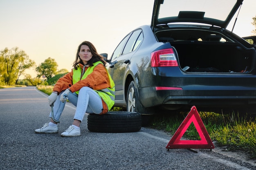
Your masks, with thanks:
<instances>
[{"instance_id":1,"label":"loose black rubber tire lying flat under the seated woman","mask_svg":"<svg viewBox=\"0 0 256 170\"><path fill-rule=\"evenodd\" d=\"M137 112L108 112L103 115L88 115L88 130L91 132L122 133L141 129L141 115Z\"/></svg>"}]
</instances>

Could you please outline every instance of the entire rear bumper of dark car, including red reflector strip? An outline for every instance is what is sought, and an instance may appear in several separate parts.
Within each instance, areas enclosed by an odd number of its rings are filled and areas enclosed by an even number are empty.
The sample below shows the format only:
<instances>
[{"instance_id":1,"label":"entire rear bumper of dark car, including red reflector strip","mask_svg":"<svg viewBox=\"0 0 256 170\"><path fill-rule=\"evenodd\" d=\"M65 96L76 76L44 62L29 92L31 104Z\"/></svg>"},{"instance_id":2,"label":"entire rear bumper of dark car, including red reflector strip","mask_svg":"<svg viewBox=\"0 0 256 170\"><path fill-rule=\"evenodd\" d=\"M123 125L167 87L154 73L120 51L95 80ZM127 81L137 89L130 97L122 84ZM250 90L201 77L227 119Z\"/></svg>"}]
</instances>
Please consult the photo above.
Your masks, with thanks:
<instances>
[{"instance_id":1,"label":"entire rear bumper of dark car, including red reflector strip","mask_svg":"<svg viewBox=\"0 0 256 170\"><path fill-rule=\"evenodd\" d=\"M204 111L211 108L256 110L256 75L184 73L179 67L154 67L140 73L137 86L139 100L145 108L190 110L191 106L197 106L205 108ZM172 90L166 90L168 88Z\"/></svg>"}]
</instances>

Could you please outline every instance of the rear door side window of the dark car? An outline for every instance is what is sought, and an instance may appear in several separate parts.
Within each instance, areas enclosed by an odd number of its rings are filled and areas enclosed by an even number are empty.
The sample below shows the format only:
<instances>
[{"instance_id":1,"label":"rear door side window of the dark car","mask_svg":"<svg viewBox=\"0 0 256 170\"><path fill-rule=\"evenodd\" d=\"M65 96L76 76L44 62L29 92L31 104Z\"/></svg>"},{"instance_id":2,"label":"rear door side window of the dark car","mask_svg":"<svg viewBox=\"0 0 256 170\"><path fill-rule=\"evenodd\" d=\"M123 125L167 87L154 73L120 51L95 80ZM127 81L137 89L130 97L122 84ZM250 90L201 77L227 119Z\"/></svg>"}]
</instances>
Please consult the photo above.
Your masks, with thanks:
<instances>
[{"instance_id":1,"label":"rear door side window of the dark car","mask_svg":"<svg viewBox=\"0 0 256 170\"><path fill-rule=\"evenodd\" d=\"M139 38L141 39L140 35L142 35L141 30L136 30L132 33L128 42L126 43L126 46L124 47L124 51L123 51L122 55L130 53L137 48L137 46L140 43L138 40L139 40ZM143 35L142 35L142 38L143 38Z\"/></svg>"}]
</instances>

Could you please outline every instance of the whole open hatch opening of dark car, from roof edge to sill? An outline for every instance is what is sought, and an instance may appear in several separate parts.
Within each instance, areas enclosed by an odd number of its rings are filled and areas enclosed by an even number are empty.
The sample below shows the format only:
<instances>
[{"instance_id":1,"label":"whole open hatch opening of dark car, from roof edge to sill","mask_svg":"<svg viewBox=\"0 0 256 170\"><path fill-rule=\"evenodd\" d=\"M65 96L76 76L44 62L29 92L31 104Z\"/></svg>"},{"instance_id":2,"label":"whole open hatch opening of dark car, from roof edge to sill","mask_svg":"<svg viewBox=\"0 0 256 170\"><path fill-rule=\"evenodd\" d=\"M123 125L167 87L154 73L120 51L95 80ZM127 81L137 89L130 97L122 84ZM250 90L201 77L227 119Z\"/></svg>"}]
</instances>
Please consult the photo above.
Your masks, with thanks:
<instances>
[{"instance_id":1,"label":"whole open hatch opening of dark car, from roof edge to sill","mask_svg":"<svg viewBox=\"0 0 256 170\"><path fill-rule=\"evenodd\" d=\"M183 71L251 73L255 66L254 48L235 42L224 35L221 28L193 26L198 28L155 31L159 42L170 43L176 49L177 60Z\"/></svg>"}]
</instances>

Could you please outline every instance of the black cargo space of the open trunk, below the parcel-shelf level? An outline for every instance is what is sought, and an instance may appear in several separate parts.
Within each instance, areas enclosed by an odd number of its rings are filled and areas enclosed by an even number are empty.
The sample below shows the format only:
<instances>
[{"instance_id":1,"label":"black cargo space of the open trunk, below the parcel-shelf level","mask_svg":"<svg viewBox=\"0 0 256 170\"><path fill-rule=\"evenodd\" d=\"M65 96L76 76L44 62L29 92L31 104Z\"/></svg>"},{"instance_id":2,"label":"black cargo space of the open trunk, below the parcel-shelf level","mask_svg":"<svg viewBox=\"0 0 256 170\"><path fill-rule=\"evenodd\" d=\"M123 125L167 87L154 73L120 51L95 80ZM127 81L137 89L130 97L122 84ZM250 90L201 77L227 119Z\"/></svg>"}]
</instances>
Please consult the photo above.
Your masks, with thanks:
<instances>
[{"instance_id":1,"label":"black cargo space of the open trunk, below the parcel-shelf level","mask_svg":"<svg viewBox=\"0 0 256 170\"><path fill-rule=\"evenodd\" d=\"M204 73L249 73L254 64L254 49L235 42L173 41L183 71Z\"/></svg>"}]
</instances>

